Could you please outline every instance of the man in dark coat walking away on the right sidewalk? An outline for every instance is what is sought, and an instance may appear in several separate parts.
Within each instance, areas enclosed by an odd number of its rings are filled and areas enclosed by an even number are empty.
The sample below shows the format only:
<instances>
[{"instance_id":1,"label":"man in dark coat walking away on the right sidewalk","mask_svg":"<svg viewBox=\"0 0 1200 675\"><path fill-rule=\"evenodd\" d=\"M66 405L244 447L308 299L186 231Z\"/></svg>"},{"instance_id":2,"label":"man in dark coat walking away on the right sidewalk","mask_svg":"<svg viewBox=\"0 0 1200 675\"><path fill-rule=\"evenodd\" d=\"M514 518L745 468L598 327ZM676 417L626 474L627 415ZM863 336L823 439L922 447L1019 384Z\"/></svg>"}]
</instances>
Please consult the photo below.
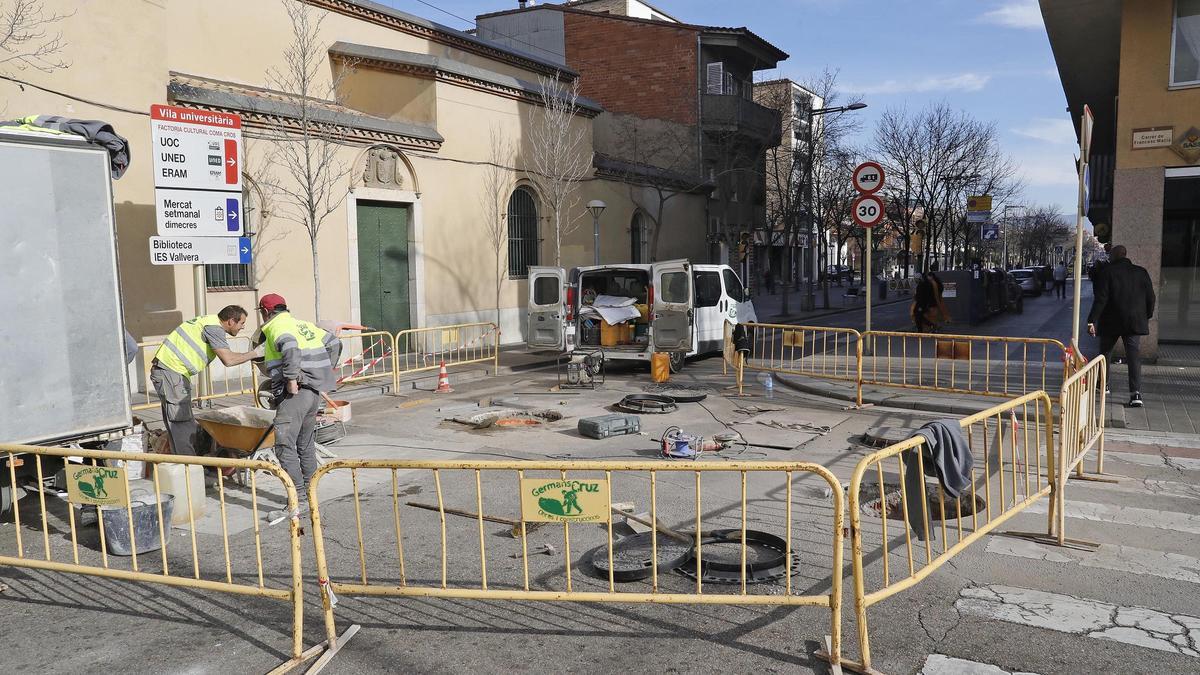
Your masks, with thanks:
<instances>
[{"instance_id":1,"label":"man in dark coat walking away on the right sidewalk","mask_svg":"<svg viewBox=\"0 0 1200 675\"><path fill-rule=\"evenodd\" d=\"M1154 285L1146 268L1133 264L1124 246L1112 246L1110 262L1096 274L1087 331L1100 339L1105 365L1120 339L1129 365L1129 406L1141 407L1141 336L1150 334L1154 316ZM1111 387L1111 383L1110 383Z\"/></svg>"}]
</instances>

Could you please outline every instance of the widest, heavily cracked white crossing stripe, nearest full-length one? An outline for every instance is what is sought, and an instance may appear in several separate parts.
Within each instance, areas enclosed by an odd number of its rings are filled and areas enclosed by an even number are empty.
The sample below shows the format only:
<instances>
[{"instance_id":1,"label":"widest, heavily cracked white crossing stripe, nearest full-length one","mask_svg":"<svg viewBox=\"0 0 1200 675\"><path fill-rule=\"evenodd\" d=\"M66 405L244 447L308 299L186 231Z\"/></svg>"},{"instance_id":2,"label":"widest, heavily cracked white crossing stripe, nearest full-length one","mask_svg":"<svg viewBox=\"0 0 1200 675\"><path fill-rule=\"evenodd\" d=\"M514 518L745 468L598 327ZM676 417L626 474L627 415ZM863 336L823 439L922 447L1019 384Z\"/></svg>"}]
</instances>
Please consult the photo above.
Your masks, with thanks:
<instances>
[{"instance_id":1,"label":"widest, heavily cracked white crossing stripe, nearest full-length one","mask_svg":"<svg viewBox=\"0 0 1200 675\"><path fill-rule=\"evenodd\" d=\"M1195 616L1013 586L968 587L960 596L954 607L968 615L1200 657Z\"/></svg>"}]
</instances>

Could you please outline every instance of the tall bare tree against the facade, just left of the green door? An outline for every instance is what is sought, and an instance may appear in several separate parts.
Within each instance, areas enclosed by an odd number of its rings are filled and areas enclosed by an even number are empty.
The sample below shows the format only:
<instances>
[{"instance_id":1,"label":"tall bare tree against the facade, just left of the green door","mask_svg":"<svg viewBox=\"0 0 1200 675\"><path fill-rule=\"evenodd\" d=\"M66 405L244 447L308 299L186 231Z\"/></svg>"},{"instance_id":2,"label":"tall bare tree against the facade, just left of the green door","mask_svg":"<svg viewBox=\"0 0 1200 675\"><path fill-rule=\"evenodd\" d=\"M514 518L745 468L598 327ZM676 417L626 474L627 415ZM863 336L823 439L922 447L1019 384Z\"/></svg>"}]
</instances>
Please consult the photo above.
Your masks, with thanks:
<instances>
[{"instance_id":1,"label":"tall bare tree against the facade, just left of the green door","mask_svg":"<svg viewBox=\"0 0 1200 675\"><path fill-rule=\"evenodd\" d=\"M283 65L266 73L271 89L295 115L294 124L269 135L272 143L270 177L280 196L277 215L304 227L312 251L313 303L320 318L320 261L317 240L325 220L346 201L346 178L350 166L341 159L337 127L318 120L318 110L336 106L341 79L352 72L343 64L340 74L329 78L328 44L320 26L326 14L302 0L283 0L292 24L292 42L283 49Z\"/></svg>"}]
</instances>

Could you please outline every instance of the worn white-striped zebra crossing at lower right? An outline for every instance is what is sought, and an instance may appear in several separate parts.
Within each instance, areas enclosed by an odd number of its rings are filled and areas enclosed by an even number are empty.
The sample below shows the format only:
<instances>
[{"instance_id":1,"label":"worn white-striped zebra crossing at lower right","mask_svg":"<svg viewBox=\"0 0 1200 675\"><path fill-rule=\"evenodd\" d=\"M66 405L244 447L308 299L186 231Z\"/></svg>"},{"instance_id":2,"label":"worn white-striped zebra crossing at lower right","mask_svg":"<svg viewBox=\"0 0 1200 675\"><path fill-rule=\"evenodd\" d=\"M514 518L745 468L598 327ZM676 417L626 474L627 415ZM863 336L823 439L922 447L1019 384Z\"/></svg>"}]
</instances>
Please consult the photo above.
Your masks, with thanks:
<instances>
[{"instance_id":1,"label":"worn white-striped zebra crossing at lower right","mask_svg":"<svg viewBox=\"0 0 1200 675\"><path fill-rule=\"evenodd\" d=\"M1108 640L1130 647L1200 659L1200 460L1174 458L1162 448L1147 453L1110 453L1105 468L1118 484L1070 482L1067 488L1067 533L1098 544L1094 551L1058 548L996 534L988 538L991 561L1014 558L1045 574L1030 574L1030 587L983 584L962 589L954 603L962 616L1068 633L1072 640ZM1044 524L1046 502L1021 518ZM1032 567L1031 567L1032 569ZM1102 572L1103 571L1103 572ZM1087 595L1064 591L1063 579L1116 579L1111 586L1146 589L1156 578L1165 591L1106 597L1104 581L1086 586ZM1158 584L1162 584L1159 581ZM1163 586L1158 586L1162 589ZM1138 596L1136 591L1133 596ZM1181 602L1182 601L1182 602ZM1156 607L1165 605L1168 607ZM1180 607L1190 611L1181 613ZM1079 645L1086 652L1086 644ZM937 671L944 663L935 663ZM1200 670L1200 661L1187 667ZM1132 670L1130 670L1132 671Z\"/></svg>"}]
</instances>

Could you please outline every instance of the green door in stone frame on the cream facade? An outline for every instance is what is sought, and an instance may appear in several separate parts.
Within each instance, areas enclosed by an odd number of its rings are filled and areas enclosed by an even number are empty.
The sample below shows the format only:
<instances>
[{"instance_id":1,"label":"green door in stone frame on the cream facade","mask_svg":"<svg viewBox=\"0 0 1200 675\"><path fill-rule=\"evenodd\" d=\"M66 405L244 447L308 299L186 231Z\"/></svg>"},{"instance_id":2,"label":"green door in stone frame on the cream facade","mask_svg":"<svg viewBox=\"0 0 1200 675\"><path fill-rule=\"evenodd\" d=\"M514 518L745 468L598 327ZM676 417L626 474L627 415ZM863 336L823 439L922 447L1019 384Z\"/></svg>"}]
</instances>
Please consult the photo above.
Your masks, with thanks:
<instances>
[{"instance_id":1,"label":"green door in stone frame on the cream facade","mask_svg":"<svg viewBox=\"0 0 1200 675\"><path fill-rule=\"evenodd\" d=\"M360 202L359 306L361 322L396 333L408 313L408 207Z\"/></svg>"}]
</instances>

